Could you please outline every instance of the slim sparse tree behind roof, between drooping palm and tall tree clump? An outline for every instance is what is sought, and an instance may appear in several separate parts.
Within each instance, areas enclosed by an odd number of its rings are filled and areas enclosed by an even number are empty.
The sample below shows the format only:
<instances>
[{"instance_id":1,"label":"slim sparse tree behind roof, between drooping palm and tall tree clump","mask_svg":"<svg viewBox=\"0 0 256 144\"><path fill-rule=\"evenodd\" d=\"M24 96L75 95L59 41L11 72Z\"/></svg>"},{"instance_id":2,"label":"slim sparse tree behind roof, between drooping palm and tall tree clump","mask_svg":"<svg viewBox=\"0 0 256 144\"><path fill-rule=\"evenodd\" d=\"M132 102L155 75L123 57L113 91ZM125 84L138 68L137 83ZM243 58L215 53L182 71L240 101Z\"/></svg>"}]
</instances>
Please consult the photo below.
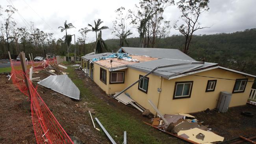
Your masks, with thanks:
<instances>
[{"instance_id":1,"label":"slim sparse tree behind roof, between drooping palm and tall tree clump","mask_svg":"<svg viewBox=\"0 0 256 144\"><path fill-rule=\"evenodd\" d=\"M124 7L120 7L117 10L115 10L115 13L117 13L116 20L113 21L113 35L117 36L119 38L119 46L124 46L124 43L128 45L128 41L126 38L128 38L129 35L132 35L132 32L130 30L127 30L127 24L126 20L128 20L128 15L124 15Z\"/></svg>"}]
</instances>

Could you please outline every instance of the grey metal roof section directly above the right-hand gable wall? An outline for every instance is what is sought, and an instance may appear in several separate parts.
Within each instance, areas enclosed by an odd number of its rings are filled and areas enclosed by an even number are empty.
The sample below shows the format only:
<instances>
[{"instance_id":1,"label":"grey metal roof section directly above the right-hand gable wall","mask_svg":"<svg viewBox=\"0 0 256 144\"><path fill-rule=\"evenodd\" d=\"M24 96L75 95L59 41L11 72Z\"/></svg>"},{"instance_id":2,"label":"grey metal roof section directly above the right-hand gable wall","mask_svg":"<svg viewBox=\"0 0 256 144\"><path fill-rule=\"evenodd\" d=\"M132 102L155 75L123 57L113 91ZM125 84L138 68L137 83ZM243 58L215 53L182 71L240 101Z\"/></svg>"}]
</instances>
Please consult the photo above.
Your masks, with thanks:
<instances>
[{"instance_id":1,"label":"grey metal roof section directly above the right-hand gable wall","mask_svg":"<svg viewBox=\"0 0 256 144\"><path fill-rule=\"evenodd\" d=\"M147 61L142 63L134 63L132 65L128 65L128 67L136 70L140 70L143 72L150 72L152 69L156 68L157 66L174 65L174 64L189 63L189 62L197 62L197 61L186 61L186 60L177 60L177 59L157 59L157 60ZM163 78L168 79L173 76L184 74L186 72L199 70L202 68L208 68L215 65L217 66L218 64L204 63L204 64L195 64L195 65L173 66L173 67L167 67L167 68L159 68L158 70L154 71L152 74L157 76L162 76Z\"/></svg>"}]
</instances>

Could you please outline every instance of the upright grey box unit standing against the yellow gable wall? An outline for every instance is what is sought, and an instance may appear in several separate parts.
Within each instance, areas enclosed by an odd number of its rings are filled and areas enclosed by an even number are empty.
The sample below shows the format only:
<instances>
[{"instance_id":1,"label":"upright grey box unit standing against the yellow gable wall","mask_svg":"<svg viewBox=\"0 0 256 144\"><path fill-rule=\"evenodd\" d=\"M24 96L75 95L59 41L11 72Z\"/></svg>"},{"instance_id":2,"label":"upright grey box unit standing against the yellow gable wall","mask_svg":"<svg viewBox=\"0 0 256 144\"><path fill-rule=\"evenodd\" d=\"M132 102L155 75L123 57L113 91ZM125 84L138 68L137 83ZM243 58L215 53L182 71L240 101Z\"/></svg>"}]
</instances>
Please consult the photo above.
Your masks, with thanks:
<instances>
[{"instance_id":1,"label":"upright grey box unit standing against the yellow gable wall","mask_svg":"<svg viewBox=\"0 0 256 144\"><path fill-rule=\"evenodd\" d=\"M219 100L217 104L217 110L221 113L226 113L228 111L229 103L232 94L229 92L221 92L219 95Z\"/></svg>"}]
</instances>

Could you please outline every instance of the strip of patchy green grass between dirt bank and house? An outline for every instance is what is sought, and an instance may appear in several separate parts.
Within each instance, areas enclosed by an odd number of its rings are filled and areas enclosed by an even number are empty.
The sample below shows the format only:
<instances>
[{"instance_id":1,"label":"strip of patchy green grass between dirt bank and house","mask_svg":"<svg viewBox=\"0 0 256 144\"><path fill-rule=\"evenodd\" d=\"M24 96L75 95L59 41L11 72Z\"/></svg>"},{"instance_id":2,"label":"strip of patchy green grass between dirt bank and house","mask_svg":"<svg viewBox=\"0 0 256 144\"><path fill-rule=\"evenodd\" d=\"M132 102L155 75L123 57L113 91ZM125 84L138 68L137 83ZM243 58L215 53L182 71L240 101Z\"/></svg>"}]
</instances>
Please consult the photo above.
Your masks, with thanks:
<instances>
[{"instance_id":1,"label":"strip of patchy green grass between dirt bank and house","mask_svg":"<svg viewBox=\"0 0 256 144\"><path fill-rule=\"evenodd\" d=\"M80 99L83 102L86 101L91 103L89 104L89 107L96 110L96 114L93 117L97 117L100 120L102 125L117 143L122 143L124 131L127 131L127 140L130 144L185 143L178 138L173 138L170 135L161 133L150 126L147 126L135 116L128 114L125 111L121 111L117 107L113 107L103 99L93 95L90 89L85 87L85 80L78 78L73 67L68 67L66 72L69 72L69 78L72 79L78 89L80 89ZM96 121L95 124L96 127L100 128ZM106 137L102 130L99 133L101 133L103 137Z\"/></svg>"}]
</instances>

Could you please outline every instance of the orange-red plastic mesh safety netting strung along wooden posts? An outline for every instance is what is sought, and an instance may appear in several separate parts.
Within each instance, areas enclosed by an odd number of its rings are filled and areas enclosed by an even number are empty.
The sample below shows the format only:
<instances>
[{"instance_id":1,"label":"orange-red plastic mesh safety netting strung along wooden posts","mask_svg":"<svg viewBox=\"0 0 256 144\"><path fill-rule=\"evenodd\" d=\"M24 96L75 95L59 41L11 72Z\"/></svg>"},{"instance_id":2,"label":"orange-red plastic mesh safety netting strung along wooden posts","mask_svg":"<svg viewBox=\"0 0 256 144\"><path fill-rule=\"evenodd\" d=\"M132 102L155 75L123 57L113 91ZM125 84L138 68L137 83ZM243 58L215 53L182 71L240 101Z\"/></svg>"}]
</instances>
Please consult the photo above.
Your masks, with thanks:
<instances>
[{"instance_id":1,"label":"orange-red plastic mesh safety netting strung along wooden posts","mask_svg":"<svg viewBox=\"0 0 256 144\"><path fill-rule=\"evenodd\" d=\"M21 92L26 94L31 102L32 122L35 138L38 144L73 144L65 130L61 127L54 115L51 113L41 96L37 92L37 86L34 87L29 79L31 66L34 70L44 69L45 66L53 64L56 59L47 59L42 62L26 62L26 74L22 71L20 62L11 62L11 79ZM25 77L28 79L28 89Z\"/></svg>"}]
</instances>

